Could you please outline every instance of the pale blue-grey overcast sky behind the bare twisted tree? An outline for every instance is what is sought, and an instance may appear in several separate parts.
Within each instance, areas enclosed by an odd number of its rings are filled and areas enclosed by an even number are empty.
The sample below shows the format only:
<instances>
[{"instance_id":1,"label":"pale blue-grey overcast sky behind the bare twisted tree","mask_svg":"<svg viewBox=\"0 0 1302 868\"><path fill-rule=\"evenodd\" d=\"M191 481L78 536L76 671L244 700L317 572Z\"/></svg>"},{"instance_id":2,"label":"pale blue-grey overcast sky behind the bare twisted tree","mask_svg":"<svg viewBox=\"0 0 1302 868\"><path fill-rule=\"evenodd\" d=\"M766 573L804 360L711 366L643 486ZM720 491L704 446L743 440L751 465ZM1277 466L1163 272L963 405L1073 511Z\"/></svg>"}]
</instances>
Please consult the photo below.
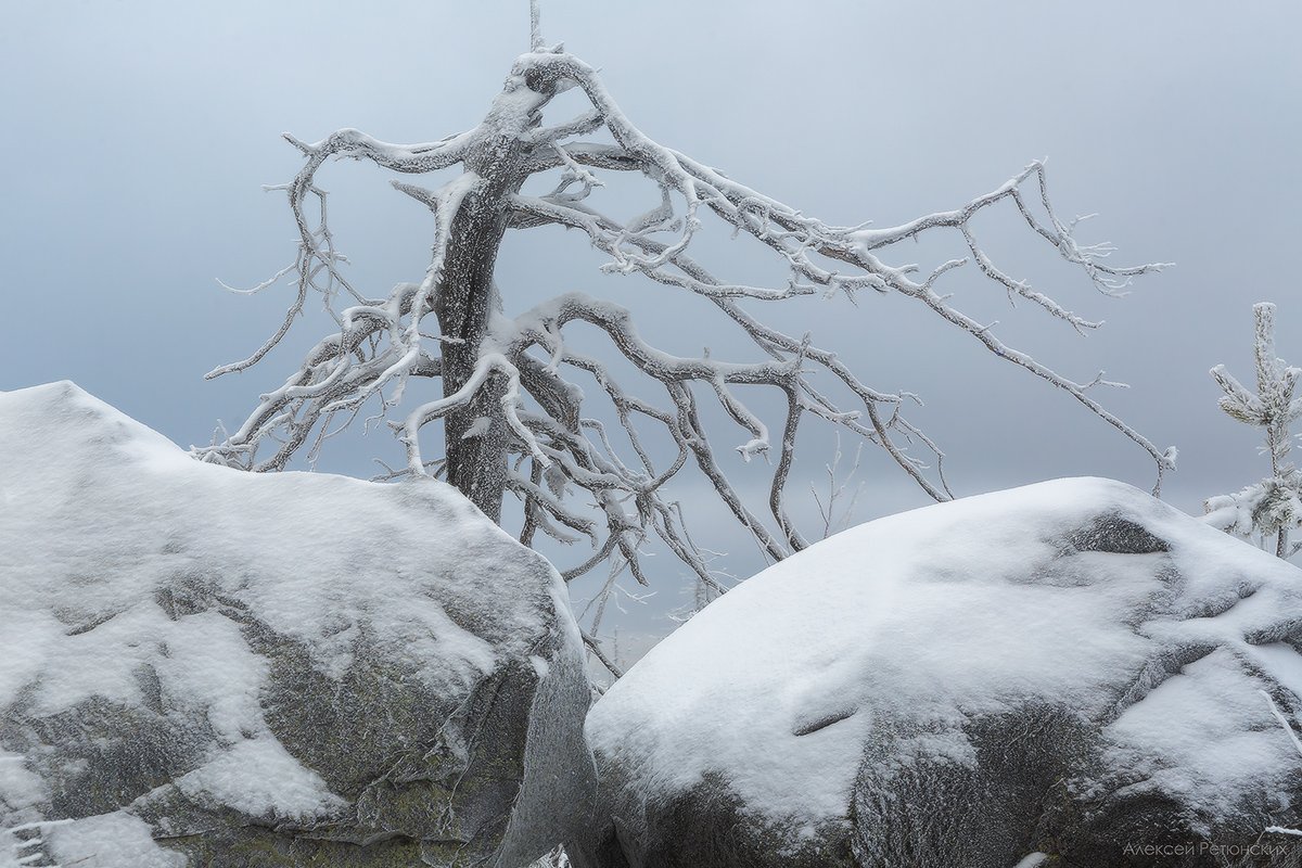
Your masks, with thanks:
<instances>
[{"instance_id":1,"label":"pale blue-grey overcast sky behind the bare twisted tree","mask_svg":"<svg viewBox=\"0 0 1302 868\"><path fill-rule=\"evenodd\" d=\"M1107 325L1078 338L971 277L950 285L956 303L1068 376L1101 367L1130 383L1103 397L1180 448L1167 484L1177 506L1263 475L1256 433L1220 414L1207 370L1225 362L1251 377L1250 306L1263 299L1280 307L1280 353L1302 363L1298 4L544 0L543 16L548 42L602 68L648 135L828 223L885 226L957 207L1049 156L1059 208L1100 212L1085 239L1177 267L1104 298L1005 211L978 225L992 251ZM299 325L249 373L201 379L253 350L288 303L288 289L249 299L214 281L255 284L293 255L283 197L259 189L298 167L279 134L357 126L427 141L470 128L526 43L525 0L9 4L0 389L68 377L181 445L206 442L217 418L236 424L326 328ZM419 206L368 167L322 180L357 282L383 294L418 278ZM729 268L750 267L720 251ZM641 308L667 349L741 346L599 263L573 234L512 241L499 269L508 312L583 289ZM773 316L844 347L867 383L921 393L914 419L949 453L960 493L1078 474L1152 481L1147 457L1069 397L902 299ZM816 445L806 475L827 459ZM395 454L385 435L323 466L367 474L372 454ZM924 502L878 470L861 519ZM734 571L758 566L747 557Z\"/></svg>"}]
</instances>

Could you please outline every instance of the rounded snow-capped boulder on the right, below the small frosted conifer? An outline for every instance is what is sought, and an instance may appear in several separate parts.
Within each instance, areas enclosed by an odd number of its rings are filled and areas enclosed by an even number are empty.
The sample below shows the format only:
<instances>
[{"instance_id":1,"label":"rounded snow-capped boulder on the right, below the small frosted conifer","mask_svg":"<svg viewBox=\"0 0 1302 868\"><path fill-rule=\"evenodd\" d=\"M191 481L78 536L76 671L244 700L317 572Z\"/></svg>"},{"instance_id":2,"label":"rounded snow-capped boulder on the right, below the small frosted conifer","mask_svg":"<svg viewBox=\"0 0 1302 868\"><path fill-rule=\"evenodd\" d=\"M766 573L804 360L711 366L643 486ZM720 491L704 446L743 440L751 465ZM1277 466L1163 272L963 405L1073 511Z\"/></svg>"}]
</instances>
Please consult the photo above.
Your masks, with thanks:
<instances>
[{"instance_id":1,"label":"rounded snow-capped boulder on the right, below the small frosted conifer","mask_svg":"<svg viewBox=\"0 0 1302 868\"><path fill-rule=\"evenodd\" d=\"M596 703L604 819L572 858L1297 865L1258 837L1302 806L1271 704L1302 708L1299 648L1302 571L1120 483L884 518L712 603ZM1254 842L1285 855L1216 850Z\"/></svg>"}]
</instances>

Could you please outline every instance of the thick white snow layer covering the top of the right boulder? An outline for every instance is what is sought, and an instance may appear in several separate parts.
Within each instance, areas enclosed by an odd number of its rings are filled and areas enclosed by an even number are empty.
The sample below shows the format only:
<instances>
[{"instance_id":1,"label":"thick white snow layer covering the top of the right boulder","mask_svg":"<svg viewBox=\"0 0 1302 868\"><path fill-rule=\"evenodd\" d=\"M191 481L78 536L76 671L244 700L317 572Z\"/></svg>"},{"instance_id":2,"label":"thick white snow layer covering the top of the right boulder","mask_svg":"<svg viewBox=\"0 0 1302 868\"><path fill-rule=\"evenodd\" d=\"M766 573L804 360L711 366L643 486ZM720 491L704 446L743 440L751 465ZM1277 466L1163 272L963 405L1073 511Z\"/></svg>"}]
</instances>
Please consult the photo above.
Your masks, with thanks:
<instances>
[{"instance_id":1,"label":"thick white snow layer covering the top of the right boulder","mask_svg":"<svg viewBox=\"0 0 1302 868\"><path fill-rule=\"evenodd\" d=\"M1100 513L1169 552L1059 557ZM812 832L845 816L875 720L918 725L897 751L971 764L966 721L1048 698L1082 721L1120 711L1108 761L1216 815L1302 770L1259 692L1302 690L1298 653L1272 642L1299 621L1295 567L1129 485L1056 480L878 519L767 569L633 666L587 733L641 798L717 773ZM1163 655L1198 645L1215 651L1165 678Z\"/></svg>"}]
</instances>

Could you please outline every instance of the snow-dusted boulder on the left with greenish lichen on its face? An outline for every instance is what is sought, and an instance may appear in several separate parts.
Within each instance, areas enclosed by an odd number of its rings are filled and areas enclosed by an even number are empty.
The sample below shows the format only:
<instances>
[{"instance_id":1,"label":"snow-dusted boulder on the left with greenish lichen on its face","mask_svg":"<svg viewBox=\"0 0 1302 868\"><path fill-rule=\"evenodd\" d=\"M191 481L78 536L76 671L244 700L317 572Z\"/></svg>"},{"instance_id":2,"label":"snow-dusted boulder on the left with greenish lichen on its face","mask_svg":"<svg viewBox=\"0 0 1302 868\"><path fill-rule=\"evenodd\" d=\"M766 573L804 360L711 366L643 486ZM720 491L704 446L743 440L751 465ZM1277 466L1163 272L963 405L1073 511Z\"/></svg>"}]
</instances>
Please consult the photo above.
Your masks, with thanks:
<instances>
[{"instance_id":1,"label":"snow-dusted boulder on the left with greenish lichen on its face","mask_svg":"<svg viewBox=\"0 0 1302 868\"><path fill-rule=\"evenodd\" d=\"M556 571L449 487L0 393L0 864L519 868L586 817L587 707Z\"/></svg>"}]
</instances>

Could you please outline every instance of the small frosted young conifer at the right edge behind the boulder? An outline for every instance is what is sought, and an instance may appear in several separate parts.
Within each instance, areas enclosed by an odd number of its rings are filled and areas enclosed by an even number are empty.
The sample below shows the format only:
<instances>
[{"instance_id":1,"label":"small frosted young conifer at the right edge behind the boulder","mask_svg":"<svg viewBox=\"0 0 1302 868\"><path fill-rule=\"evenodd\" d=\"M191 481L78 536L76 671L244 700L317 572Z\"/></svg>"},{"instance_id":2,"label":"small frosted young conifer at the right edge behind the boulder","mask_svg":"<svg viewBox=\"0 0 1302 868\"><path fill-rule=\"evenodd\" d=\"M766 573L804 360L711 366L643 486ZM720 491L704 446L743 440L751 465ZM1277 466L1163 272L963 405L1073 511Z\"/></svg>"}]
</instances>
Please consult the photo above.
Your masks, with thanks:
<instances>
[{"instance_id":1,"label":"small frosted young conifer at the right edge behind the boulder","mask_svg":"<svg viewBox=\"0 0 1302 868\"><path fill-rule=\"evenodd\" d=\"M1293 422L1302 416L1302 398L1293 397L1302 370L1275 355L1275 305L1253 306L1256 334L1256 394L1217 364L1212 379L1225 394L1220 407L1232 419L1266 429L1264 453L1271 457L1271 475L1234 495L1210 497L1203 504L1206 521L1236 536L1256 536L1264 548L1273 543L1282 558L1302 550L1289 545L1289 531L1302 527L1302 472L1288 459L1293 446Z\"/></svg>"}]
</instances>

